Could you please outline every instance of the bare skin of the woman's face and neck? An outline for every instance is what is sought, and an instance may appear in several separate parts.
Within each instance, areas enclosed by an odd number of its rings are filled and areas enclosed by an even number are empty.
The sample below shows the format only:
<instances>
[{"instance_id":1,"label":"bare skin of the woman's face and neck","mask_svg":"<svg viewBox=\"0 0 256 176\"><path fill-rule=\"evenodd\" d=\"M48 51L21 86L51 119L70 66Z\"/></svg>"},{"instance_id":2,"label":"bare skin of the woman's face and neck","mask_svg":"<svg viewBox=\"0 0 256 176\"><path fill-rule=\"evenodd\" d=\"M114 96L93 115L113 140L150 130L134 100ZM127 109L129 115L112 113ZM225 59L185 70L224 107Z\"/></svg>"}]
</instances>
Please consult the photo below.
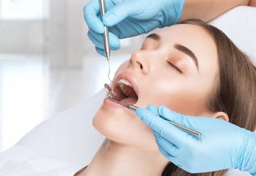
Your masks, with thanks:
<instances>
[{"instance_id":1,"label":"bare skin of the woman's face and neck","mask_svg":"<svg viewBox=\"0 0 256 176\"><path fill-rule=\"evenodd\" d=\"M205 106L218 75L217 49L210 35L200 26L187 24L171 26L157 34L158 39L146 38L142 48L134 51L116 72L116 76L129 73L137 82L135 105L165 105L182 114L226 118L226 114L211 112ZM175 44L194 52L198 68L190 56L174 48ZM103 103L94 116L94 127L106 140L79 175L162 174L168 161L159 152L150 127L134 112Z\"/></svg>"}]
</instances>

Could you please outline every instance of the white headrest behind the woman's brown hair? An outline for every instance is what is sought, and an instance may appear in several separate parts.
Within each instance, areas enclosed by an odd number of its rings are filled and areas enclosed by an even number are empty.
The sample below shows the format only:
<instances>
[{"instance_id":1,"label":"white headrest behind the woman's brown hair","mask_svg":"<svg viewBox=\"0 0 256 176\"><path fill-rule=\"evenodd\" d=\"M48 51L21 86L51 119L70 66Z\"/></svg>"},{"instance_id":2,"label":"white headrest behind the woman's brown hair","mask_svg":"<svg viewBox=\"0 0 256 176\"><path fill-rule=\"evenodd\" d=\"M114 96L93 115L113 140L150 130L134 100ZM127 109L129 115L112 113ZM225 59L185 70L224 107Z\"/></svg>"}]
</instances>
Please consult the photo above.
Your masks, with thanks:
<instances>
[{"instance_id":1,"label":"white headrest behind the woman's brown hair","mask_svg":"<svg viewBox=\"0 0 256 176\"><path fill-rule=\"evenodd\" d=\"M211 25L222 30L256 64L256 7L238 6L215 18Z\"/></svg>"}]
</instances>

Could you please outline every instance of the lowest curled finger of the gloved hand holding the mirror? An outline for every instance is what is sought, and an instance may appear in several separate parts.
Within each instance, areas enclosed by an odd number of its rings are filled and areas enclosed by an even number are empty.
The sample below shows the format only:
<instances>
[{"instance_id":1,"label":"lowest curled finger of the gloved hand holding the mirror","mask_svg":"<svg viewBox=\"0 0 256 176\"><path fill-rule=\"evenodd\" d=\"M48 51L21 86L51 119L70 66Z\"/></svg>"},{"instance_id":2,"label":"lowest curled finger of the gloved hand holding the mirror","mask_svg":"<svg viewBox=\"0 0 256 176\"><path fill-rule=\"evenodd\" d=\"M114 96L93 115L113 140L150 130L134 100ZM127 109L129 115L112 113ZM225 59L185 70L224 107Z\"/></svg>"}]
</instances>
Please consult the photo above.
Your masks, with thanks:
<instances>
[{"instance_id":1,"label":"lowest curled finger of the gloved hand holding the mirror","mask_svg":"<svg viewBox=\"0 0 256 176\"><path fill-rule=\"evenodd\" d=\"M162 146L166 153L170 154L173 157L178 156L178 147L175 146L172 142L166 140L166 138L162 138L162 136L156 132L154 132L154 138L156 138L158 146Z\"/></svg>"}]
</instances>

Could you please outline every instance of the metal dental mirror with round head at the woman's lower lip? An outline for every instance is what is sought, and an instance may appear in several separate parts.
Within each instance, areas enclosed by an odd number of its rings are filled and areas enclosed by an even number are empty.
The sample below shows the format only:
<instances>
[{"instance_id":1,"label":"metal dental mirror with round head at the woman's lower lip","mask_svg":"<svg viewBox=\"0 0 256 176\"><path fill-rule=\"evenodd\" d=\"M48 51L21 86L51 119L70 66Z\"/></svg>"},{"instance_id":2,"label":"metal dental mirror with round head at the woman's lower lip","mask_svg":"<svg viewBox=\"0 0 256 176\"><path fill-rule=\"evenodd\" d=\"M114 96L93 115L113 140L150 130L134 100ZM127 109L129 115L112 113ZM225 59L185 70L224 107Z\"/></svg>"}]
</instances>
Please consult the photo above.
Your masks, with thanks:
<instances>
[{"instance_id":1,"label":"metal dental mirror with round head at the woman's lower lip","mask_svg":"<svg viewBox=\"0 0 256 176\"><path fill-rule=\"evenodd\" d=\"M111 101L118 103L119 105L125 106L126 108L128 108L129 110L134 110L136 111L137 108L139 108L138 106L134 106L134 105L130 105L130 104L126 104L124 102L119 102L117 100L114 99L114 91L111 89L111 87L108 84L105 84L105 89L106 89L106 93L108 94L109 98ZM163 118L164 119L164 118ZM164 119L166 120L166 119ZM194 136L201 136L202 134L196 130L192 130L190 128L187 128L186 126L182 126L179 125L178 123L175 122L171 122L169 120L166 120L166 122L169 122L170 124L176 126L178 129L184 130L189 134L193 134Z\"/></svg>"}]
</instances>

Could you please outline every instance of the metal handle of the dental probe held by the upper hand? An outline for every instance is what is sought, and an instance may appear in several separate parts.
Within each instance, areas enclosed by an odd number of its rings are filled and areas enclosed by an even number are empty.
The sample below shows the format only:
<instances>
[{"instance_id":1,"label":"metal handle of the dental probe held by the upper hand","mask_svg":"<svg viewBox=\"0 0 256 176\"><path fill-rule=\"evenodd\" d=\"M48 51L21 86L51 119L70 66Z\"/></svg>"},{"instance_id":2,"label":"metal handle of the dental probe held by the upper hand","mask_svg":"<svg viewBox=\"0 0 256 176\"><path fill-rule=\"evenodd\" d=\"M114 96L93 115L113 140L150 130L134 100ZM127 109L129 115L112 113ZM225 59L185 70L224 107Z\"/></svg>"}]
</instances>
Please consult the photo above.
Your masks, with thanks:
<instances>
[{"instance_id":1,"label":"metal handle of the dental probe held by the upper hand","mask_svg":"<svg viewBox=\"0 0 256 176\"><path fill-rule=\"evenodd\" d=\"M99 0L100 8L101 8L101 16L106 13L106 6L104 0ZM107 61L110 60L110 41L109 41L109 29L107 26L104 26L104 34L103 34L103 42L104 42L104 50L106 54Z\"/></svg>"}]
</instances>

